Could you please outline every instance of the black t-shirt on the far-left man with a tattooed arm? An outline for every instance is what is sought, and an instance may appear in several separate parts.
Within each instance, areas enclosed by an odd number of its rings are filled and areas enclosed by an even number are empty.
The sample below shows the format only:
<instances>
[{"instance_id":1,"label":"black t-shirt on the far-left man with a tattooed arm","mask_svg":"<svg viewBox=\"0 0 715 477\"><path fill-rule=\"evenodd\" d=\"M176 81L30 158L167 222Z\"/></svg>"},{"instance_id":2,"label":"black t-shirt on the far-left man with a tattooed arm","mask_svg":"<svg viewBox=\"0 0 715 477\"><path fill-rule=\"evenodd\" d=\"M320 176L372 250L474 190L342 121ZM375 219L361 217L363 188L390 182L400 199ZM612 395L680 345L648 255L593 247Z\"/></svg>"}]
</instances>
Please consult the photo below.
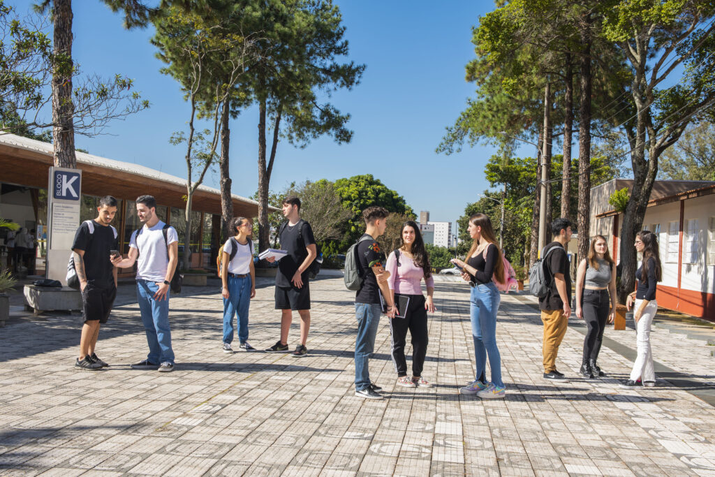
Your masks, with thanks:
<instances>
[{"instance_id":1,"label":"black t-shirt on the far-left man with a tattooed arm","mask_svg":"<svg viewBox=\"0 0 715 477\"><path fill-rule=\"evenodd\" d=\"M72 250L84 250L84 272L87 284L97 287L114 287L114 265L109 261L109 251L119 250L117 238L111 226L99 225L92 220L94 233L89 233L89 225L82 222L74 235Z\"/></svg>"}]
</instances>

